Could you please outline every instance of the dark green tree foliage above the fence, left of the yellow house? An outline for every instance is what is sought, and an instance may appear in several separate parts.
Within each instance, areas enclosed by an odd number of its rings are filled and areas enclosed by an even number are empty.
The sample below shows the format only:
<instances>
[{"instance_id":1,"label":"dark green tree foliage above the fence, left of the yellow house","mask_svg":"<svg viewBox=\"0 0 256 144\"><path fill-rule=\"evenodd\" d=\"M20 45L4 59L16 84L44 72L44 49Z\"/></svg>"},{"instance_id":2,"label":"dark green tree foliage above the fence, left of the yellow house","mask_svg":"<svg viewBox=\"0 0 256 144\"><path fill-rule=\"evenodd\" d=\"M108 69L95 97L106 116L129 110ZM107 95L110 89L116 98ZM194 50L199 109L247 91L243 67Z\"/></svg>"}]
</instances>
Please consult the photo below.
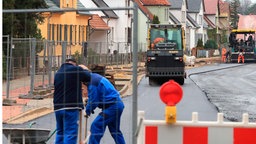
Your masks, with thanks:
<instances>
[{"instance_id":1,"label":"dark green tree foliage above the fence, left of the yellow house","mask_svg":"<svg viewBox=\"0 0 256 144\"><path fill-rule=\"evenodd\" d=\"M3 9L47 8L44 0L3 0ZM37 24L43 22L40 13L3 13L3 34L19 38L42 38Z\"/></svg>"}]
</instances>

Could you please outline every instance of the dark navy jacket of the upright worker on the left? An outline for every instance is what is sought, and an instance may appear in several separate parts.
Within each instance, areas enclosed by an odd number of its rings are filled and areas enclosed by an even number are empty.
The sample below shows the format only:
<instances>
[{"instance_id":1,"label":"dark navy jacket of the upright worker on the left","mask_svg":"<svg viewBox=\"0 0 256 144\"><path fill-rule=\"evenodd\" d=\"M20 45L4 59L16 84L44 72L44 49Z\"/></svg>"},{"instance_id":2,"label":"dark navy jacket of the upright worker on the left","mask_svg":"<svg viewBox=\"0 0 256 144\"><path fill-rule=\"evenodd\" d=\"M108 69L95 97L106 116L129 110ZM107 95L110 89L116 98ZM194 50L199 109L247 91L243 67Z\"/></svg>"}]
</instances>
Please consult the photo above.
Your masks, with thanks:
<instances>
[{"instance_id":1,"label":"dark navy jacket of the upright worker on the left","mask_svg":"<svg viewBox=\"0 0 256 144\"><path fill-rule=\"evenodd\" d=\"M89 71L64 63L54 76L54 110L84 109L82 82L89 82Z\"/></svg>"}]
</instances>

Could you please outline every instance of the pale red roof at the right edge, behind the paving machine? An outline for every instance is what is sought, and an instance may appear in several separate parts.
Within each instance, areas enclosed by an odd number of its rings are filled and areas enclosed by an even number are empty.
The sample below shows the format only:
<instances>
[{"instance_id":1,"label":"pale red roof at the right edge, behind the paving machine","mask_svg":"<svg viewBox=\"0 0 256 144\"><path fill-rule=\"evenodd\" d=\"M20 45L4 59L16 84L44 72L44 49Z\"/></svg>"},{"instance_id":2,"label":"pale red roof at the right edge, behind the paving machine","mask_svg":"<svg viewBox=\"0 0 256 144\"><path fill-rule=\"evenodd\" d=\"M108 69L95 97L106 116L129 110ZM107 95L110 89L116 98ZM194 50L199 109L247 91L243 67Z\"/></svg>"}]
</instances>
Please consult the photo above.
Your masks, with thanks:
<instances>
[{"instance_id":1,"label":"pale red roof at the right edge, behind the paving machine","mask_svg":"<svg viewBox=\"0 0 256 144\"><path fill-rule=\"evenodd\" d=\"M238 28L256 30L256 15L239 15Z\"/></svg>"}]
</instances>

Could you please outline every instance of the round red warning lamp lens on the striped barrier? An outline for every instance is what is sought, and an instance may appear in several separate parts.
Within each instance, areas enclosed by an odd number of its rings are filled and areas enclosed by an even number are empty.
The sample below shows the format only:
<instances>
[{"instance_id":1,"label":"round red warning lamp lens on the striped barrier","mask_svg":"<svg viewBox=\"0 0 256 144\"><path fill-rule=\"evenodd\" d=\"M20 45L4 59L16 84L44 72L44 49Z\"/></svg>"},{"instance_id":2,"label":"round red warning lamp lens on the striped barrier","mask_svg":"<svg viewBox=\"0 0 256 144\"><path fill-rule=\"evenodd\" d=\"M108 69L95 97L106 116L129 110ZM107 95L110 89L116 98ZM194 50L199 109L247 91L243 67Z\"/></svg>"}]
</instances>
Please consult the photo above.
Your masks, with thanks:
<instances>
[{"instance_id":1,"label":"round red warning lamp lens on the striped barrier","mask_svg":"<svg viewBox=\"0 0 256 144\"><path fill-rule=\"evenodd\" d=\"M175 106L182 98L181 86L174 80L164 83L160 87L160 98L168 106Z\"/></svg>"}]
</instances>

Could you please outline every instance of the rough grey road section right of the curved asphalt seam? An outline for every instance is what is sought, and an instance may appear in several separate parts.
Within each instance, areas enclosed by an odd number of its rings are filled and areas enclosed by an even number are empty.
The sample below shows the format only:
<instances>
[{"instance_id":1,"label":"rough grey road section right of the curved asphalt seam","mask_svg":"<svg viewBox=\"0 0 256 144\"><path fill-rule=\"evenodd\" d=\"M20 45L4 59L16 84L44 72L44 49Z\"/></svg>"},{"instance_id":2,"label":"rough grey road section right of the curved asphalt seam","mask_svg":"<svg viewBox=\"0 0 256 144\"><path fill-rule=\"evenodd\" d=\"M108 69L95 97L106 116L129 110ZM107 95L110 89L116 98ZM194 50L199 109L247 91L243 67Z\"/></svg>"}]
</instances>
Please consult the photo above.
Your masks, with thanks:
<instances>
[{"instance_id":1,"label":"rough grey road section right of the curved asphalt seam","mask_svg":"<svg viewBox=\"0 0 256 144\"><path fill-rule=\"evenodd\" d=\"M230 121L256 120L256 64L238 65L212 72L192 75L209 101Z\"/></svg>"}]
</instances>

